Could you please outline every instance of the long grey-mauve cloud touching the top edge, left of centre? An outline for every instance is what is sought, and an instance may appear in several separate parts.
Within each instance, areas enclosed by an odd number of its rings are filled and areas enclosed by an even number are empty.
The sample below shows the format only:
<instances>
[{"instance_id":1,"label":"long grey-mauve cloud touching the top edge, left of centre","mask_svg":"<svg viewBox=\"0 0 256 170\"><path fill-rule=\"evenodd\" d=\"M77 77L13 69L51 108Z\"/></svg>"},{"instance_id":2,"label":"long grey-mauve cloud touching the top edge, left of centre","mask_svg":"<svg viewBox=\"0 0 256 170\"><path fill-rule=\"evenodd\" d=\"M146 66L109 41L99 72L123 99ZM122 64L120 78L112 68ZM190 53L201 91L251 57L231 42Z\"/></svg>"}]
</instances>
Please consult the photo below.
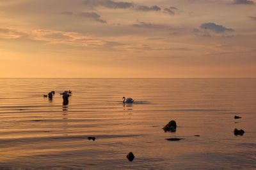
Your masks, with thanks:
<instances>
[{"instance_id":1,"label":"long grey-mauve cloud touching the top edge, left of centre","mask_svg":"<svg viewBox=\"0 0 256 170\"><path fill-rule=\"evenodd\" d=\"M132 8L133 3L129 2L115 2L111 0L84 0L84 4L86 6L90 6L91 8L95 6L104 6L106 8Z\"/></svg>"}]
</instances>

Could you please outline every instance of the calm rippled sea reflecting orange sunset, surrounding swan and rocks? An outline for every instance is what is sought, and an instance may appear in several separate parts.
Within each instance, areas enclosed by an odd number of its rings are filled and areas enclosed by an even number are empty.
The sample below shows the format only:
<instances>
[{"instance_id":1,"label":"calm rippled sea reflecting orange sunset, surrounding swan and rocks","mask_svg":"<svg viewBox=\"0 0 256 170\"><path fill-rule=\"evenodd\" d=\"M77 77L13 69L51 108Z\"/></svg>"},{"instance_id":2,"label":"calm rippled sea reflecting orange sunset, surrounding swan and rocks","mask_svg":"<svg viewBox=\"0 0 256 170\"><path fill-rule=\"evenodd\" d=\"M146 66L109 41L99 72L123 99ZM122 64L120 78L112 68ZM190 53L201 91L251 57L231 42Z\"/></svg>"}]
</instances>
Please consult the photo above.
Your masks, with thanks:
<instances>
[{"instance_id":1,"label":"calm rippled sea reflecting orange sunset, surrounding swan and rocks","mask_svg":"<svg viewBox=\"0 0 256 170\"><path fill-rule=\"evenodd\" d=\"M256 79L0 79L0 87L0 169L256 169ZM63 108L58 93L68 89ZM123 96L135 103L124 106ZM170 120L174 133L162 129Z\"/></svg>"}]
</instances>

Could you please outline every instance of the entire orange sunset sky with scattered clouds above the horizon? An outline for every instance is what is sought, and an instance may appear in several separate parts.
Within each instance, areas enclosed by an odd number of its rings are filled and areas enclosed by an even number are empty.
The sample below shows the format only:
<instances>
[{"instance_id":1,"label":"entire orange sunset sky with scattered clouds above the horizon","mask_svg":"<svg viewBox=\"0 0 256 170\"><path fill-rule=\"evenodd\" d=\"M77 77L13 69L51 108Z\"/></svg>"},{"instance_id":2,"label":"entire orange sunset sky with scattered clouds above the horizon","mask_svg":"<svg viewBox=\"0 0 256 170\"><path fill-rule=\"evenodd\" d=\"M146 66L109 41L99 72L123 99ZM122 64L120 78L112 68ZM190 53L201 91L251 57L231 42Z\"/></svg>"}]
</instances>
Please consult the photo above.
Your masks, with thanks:
<instances>
[{"instance_id":1,"label":"entire orange sunset sky with scattered clouds above the horizon","mask_svg":"<svg viewBox=\"0 0 256 170\"><path fill-rule=\"evenodd\" d=\"M255 0L0 0L1 78L255 78Z\"/></svg>"}]
</instances>

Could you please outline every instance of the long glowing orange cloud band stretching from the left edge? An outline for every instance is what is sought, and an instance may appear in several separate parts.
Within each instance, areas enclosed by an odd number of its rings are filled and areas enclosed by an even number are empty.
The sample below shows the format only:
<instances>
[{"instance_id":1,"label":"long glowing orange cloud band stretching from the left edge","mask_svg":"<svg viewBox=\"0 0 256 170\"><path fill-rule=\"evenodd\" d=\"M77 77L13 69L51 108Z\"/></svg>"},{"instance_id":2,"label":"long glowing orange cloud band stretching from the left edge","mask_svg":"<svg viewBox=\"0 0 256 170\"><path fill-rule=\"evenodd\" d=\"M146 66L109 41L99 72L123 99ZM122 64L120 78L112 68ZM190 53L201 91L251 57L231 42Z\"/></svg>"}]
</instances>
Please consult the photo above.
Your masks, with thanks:
<instances>
[{"instance_id":1,"label":"long glowing orange cloud band stretching from the left edge","mask_svg":"<svg viewBox=\"0 0 256 170\"><path fill-rule=\"evenodd\" d=\"M95 38L90 34L78 32L54 31L50 29L36 29L32 31L19 31L13 28L0 27L1 39L15 39L15 41L32 40L45 44L80 46L88 48L115 48L122 45L111 39Z\"/></svg>"}]
</instances>

